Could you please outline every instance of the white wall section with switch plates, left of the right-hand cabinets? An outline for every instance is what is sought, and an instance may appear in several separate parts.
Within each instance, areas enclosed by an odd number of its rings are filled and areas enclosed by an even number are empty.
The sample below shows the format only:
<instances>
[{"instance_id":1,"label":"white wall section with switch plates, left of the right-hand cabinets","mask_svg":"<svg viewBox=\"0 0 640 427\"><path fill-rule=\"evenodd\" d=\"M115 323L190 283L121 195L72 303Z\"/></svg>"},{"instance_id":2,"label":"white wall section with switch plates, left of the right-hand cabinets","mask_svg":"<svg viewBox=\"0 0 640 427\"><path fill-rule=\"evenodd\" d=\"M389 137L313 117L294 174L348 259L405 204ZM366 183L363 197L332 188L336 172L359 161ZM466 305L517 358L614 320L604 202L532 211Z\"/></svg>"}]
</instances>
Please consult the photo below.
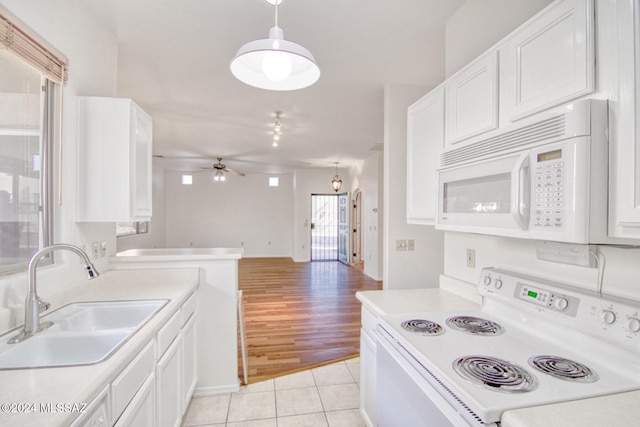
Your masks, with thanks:
<instances>
[{"instance_id":1,"label":"white wall section with switch plates, left of the right-hand cabinets","mask_svg":"<svg viewBox=\"0 0 640 427\"><path fill-rule=\"evenodd\" d=\"M384 249L385 289L437 287L443 271L443 233L407 224L407 107L428 92L423 86L385 88ZM414 251L396 250L396 240L413 239Z\"/></svg>"}]
</instances>

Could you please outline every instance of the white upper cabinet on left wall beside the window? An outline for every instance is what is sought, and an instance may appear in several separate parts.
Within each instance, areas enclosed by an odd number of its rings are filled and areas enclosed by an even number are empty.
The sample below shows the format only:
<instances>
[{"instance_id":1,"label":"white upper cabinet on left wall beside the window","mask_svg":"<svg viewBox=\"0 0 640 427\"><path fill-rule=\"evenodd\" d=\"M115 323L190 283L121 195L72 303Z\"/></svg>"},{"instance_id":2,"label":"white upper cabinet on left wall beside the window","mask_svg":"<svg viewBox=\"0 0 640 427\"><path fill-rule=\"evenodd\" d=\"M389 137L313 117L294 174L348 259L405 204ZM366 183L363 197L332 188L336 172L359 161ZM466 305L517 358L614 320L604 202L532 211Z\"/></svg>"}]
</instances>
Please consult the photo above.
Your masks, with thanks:
<instances>
[{"instance_id":1,"label":"white upper cabinet on left wall beside the window","mask_svg":"<svg viewBox=\"0 0 640 427\"><path fill-rule=\"evenodd\" d=\"M151 117L130 99L78 99L78 221L149 220Z\"/></svg>"}]
</instances>

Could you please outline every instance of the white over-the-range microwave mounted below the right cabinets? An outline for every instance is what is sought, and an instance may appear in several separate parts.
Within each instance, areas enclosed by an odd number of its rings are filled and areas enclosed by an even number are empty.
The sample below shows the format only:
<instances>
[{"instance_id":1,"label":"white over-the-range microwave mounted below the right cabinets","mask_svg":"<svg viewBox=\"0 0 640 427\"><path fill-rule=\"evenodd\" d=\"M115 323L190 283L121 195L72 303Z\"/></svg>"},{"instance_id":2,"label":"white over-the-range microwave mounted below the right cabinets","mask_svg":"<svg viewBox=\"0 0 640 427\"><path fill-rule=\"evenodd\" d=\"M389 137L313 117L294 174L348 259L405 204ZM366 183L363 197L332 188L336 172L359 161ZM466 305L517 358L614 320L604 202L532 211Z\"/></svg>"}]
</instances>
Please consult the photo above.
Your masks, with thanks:
<instances>
[{"instance_id":1,"label":"white over-the-range microwave mounted below the right cabinets","mask_svg":"<svg viewBox=\"0 0 640 427\"><path fill-rule=\"evenodd\" d=\"M436 228L606 243L607 130L584 100L442 151Z\"/></svg>"}]
</instances>

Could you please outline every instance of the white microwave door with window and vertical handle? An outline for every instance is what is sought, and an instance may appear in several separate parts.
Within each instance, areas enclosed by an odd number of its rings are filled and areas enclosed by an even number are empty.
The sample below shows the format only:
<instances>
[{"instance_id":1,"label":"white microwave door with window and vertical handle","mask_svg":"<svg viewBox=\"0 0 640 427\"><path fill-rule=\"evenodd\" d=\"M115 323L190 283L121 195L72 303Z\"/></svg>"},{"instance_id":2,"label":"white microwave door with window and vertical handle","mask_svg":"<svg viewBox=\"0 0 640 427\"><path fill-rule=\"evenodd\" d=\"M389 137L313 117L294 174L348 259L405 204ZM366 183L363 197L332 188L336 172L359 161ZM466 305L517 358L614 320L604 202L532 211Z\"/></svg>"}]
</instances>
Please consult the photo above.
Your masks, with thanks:
<instances>
[{"instance_id":1,"label":"white microwave door with window and vertical handle","mask_svg":"<svg viewBox=\"0 0 640 427\"><path fill-rule=\"evenodd\" d=\"M529 191L528 152L440 170L436 228L529 237Z\"/></svg>"}]
</instances>

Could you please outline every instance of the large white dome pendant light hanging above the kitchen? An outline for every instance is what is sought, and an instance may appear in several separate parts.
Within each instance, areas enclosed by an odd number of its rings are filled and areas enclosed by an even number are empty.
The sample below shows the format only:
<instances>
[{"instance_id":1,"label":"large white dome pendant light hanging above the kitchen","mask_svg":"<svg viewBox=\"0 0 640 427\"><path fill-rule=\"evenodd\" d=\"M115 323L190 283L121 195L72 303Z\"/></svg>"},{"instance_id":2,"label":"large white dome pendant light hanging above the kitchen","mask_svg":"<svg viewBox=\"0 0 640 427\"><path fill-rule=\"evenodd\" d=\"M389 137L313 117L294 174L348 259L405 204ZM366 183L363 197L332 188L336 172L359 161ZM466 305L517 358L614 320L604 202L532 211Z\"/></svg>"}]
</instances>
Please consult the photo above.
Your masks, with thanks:
<instances>
[{"instance_id":1,"label":"large white dome pendant light hanging above the kitchen","mask_svg":"<svg viewBox=\"0 0 640 427\"><path fill-rule=\"evenodd\" d=\"M241 82L267 90L296 90L311 86L320 78L320 68L303 46L285 40L278 26L278 5L283 0L267 0L275 8L275 25L268 39L243 45L231 60L231 73Z\"/></svg>"}]
</instances>

